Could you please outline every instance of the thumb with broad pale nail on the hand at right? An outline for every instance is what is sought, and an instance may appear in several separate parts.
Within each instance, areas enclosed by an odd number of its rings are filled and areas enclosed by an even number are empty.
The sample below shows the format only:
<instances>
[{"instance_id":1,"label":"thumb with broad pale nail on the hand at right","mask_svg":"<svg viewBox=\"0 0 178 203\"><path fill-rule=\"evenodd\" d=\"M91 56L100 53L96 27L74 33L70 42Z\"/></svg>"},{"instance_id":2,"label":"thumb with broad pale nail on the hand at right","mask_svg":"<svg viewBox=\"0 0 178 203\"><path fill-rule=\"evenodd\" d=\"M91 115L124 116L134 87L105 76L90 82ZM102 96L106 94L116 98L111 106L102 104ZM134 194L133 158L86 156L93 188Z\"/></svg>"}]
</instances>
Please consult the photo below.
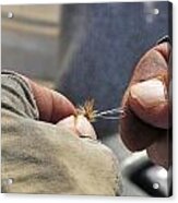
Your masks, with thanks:
<instances>
[{"instance_id":1,"label":"thumb with broad pale nail on the hand at right","mask_svg":"<svg viewBox=\"0 0 178 203\"><path fill-rule=\"evenodd\" d=\"M133 84L129 92L129 105L146 123L163 129L170 127L168 93L163 81L155 77Z\"/></svg>"}]
</instances>

